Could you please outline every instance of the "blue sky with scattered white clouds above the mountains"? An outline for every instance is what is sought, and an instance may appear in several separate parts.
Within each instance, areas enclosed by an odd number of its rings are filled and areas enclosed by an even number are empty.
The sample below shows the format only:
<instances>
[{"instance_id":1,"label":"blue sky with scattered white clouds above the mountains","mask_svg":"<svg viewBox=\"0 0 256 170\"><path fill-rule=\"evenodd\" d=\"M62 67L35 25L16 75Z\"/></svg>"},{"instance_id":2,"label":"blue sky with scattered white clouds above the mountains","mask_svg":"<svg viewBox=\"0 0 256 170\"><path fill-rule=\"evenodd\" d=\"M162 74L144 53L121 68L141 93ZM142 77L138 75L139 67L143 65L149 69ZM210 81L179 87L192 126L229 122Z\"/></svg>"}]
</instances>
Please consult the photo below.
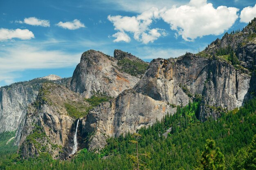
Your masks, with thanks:
<instances>
[{"instance_id":1,"label":"blue sky with scattered white clouds above the mountains","mask_svg":"<svg viewBox=\"0 0 256 170\"><path fill-rule=\"evenodd\" d=\"M197 53L254 17L255 0L0 0L0 86L70 77L90 49L144 61Z\"/></svg>"}]
</instances>

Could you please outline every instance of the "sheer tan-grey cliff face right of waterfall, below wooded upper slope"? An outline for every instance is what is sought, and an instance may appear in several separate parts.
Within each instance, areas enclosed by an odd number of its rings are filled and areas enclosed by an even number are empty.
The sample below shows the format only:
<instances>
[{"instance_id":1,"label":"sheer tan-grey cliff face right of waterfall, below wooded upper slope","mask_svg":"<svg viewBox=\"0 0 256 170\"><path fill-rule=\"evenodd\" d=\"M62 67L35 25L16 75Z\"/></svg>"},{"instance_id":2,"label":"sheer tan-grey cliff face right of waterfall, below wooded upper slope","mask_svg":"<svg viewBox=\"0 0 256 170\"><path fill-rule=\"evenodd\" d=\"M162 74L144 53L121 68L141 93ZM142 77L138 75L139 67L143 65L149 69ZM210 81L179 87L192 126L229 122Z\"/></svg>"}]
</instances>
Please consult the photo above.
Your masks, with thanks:
<instances>
[{"instance_id":1,"label":"sheer tan-grey cliff face right of waterfall, below wooded upper slope","mask_svg":"<svg viewBox=\"0 0 256 170\"><path fill-rule=\"evenodd\" d=\"M187 53L178 59L154 59L145 75L130 90L122 92L110 103L92 109L83 133L95 133L89 149L104 147L106 136L135 133L150 126L167 113L173 114L176 105L187 105L193 96L203 96L199 118L217 118L207 107L234 109L243 104L249 89L249 71L236 70L233 65L218 59Z\"/></svg>"}]
</instances>

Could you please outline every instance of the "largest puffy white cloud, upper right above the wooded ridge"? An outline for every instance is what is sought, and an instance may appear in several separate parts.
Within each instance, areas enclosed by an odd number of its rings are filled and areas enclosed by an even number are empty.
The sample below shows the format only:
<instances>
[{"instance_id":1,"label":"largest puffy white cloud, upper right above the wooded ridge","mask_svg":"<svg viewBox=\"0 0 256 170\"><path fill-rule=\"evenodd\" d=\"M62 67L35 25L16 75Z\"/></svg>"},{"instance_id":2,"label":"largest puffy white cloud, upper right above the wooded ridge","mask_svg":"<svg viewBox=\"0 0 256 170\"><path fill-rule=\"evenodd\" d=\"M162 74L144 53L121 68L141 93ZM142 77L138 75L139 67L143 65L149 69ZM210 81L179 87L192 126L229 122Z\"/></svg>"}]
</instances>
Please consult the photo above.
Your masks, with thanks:
<instances>
[{"instance_id":1,"label":"largest puffy white cloud, upper right above the wooded ridge","mask_svg":"<svg viewBox=\"0 0 256 170\"><path fill-rule=\"evenodd\" d=\"M207 0L191 0L189 4L172 7L161 13L162 19L170 24L186 41L204 35L220 35L228 30L238 18L238 9L220 6L215 9Z\"/></svg>"}]
</instances>

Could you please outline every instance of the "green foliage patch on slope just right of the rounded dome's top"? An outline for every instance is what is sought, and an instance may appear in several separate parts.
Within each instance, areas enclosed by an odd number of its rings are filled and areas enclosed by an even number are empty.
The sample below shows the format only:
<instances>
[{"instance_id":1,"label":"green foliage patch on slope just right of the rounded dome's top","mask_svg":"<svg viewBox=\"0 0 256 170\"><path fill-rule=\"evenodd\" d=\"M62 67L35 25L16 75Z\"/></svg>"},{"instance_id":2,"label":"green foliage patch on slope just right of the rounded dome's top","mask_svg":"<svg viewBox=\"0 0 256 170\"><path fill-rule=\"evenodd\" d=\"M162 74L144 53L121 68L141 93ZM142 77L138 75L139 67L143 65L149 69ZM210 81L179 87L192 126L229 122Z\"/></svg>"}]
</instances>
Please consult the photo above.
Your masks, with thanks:
<instances>
[{"instance_id":1,"label":"green foliage patch on slope just right of the rounded dome's top","mask_svg":"<svg viewBox=\"0 0 256 170\"><path fill-rule=\"evenodd\" d=\"M132 76L144 74L148 68L147 63L141 61L130 60L127 58L121 59L117 62L117 65L121 66L121 71L124 71Z\"/></svg>"}]
</instances>

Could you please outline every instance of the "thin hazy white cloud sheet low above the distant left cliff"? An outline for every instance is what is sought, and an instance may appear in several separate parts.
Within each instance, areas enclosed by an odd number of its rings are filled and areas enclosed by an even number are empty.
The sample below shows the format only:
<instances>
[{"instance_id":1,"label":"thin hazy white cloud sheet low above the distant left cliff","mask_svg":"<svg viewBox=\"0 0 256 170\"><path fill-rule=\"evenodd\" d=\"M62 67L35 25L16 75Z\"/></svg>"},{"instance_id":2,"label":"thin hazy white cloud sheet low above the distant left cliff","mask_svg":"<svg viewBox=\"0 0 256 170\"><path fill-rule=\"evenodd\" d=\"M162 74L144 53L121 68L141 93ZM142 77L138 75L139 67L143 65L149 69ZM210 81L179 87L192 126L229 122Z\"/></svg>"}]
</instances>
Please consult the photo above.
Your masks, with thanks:
<instances>
[{"instance_id":1,"label":"thin hazy white cloud sheet low above the distant left cliff","mask_svg":"<svg viewBox=\"0 0 256 170\"><path fill-rule=\"evenodd\" d=\"M28 69L65 68L79 63L81 54L45 50L35 44L15 43L0 51L0 82L9 84ZM18 75L16 73L19 73Z\"/></svg>"}]
</instances>

